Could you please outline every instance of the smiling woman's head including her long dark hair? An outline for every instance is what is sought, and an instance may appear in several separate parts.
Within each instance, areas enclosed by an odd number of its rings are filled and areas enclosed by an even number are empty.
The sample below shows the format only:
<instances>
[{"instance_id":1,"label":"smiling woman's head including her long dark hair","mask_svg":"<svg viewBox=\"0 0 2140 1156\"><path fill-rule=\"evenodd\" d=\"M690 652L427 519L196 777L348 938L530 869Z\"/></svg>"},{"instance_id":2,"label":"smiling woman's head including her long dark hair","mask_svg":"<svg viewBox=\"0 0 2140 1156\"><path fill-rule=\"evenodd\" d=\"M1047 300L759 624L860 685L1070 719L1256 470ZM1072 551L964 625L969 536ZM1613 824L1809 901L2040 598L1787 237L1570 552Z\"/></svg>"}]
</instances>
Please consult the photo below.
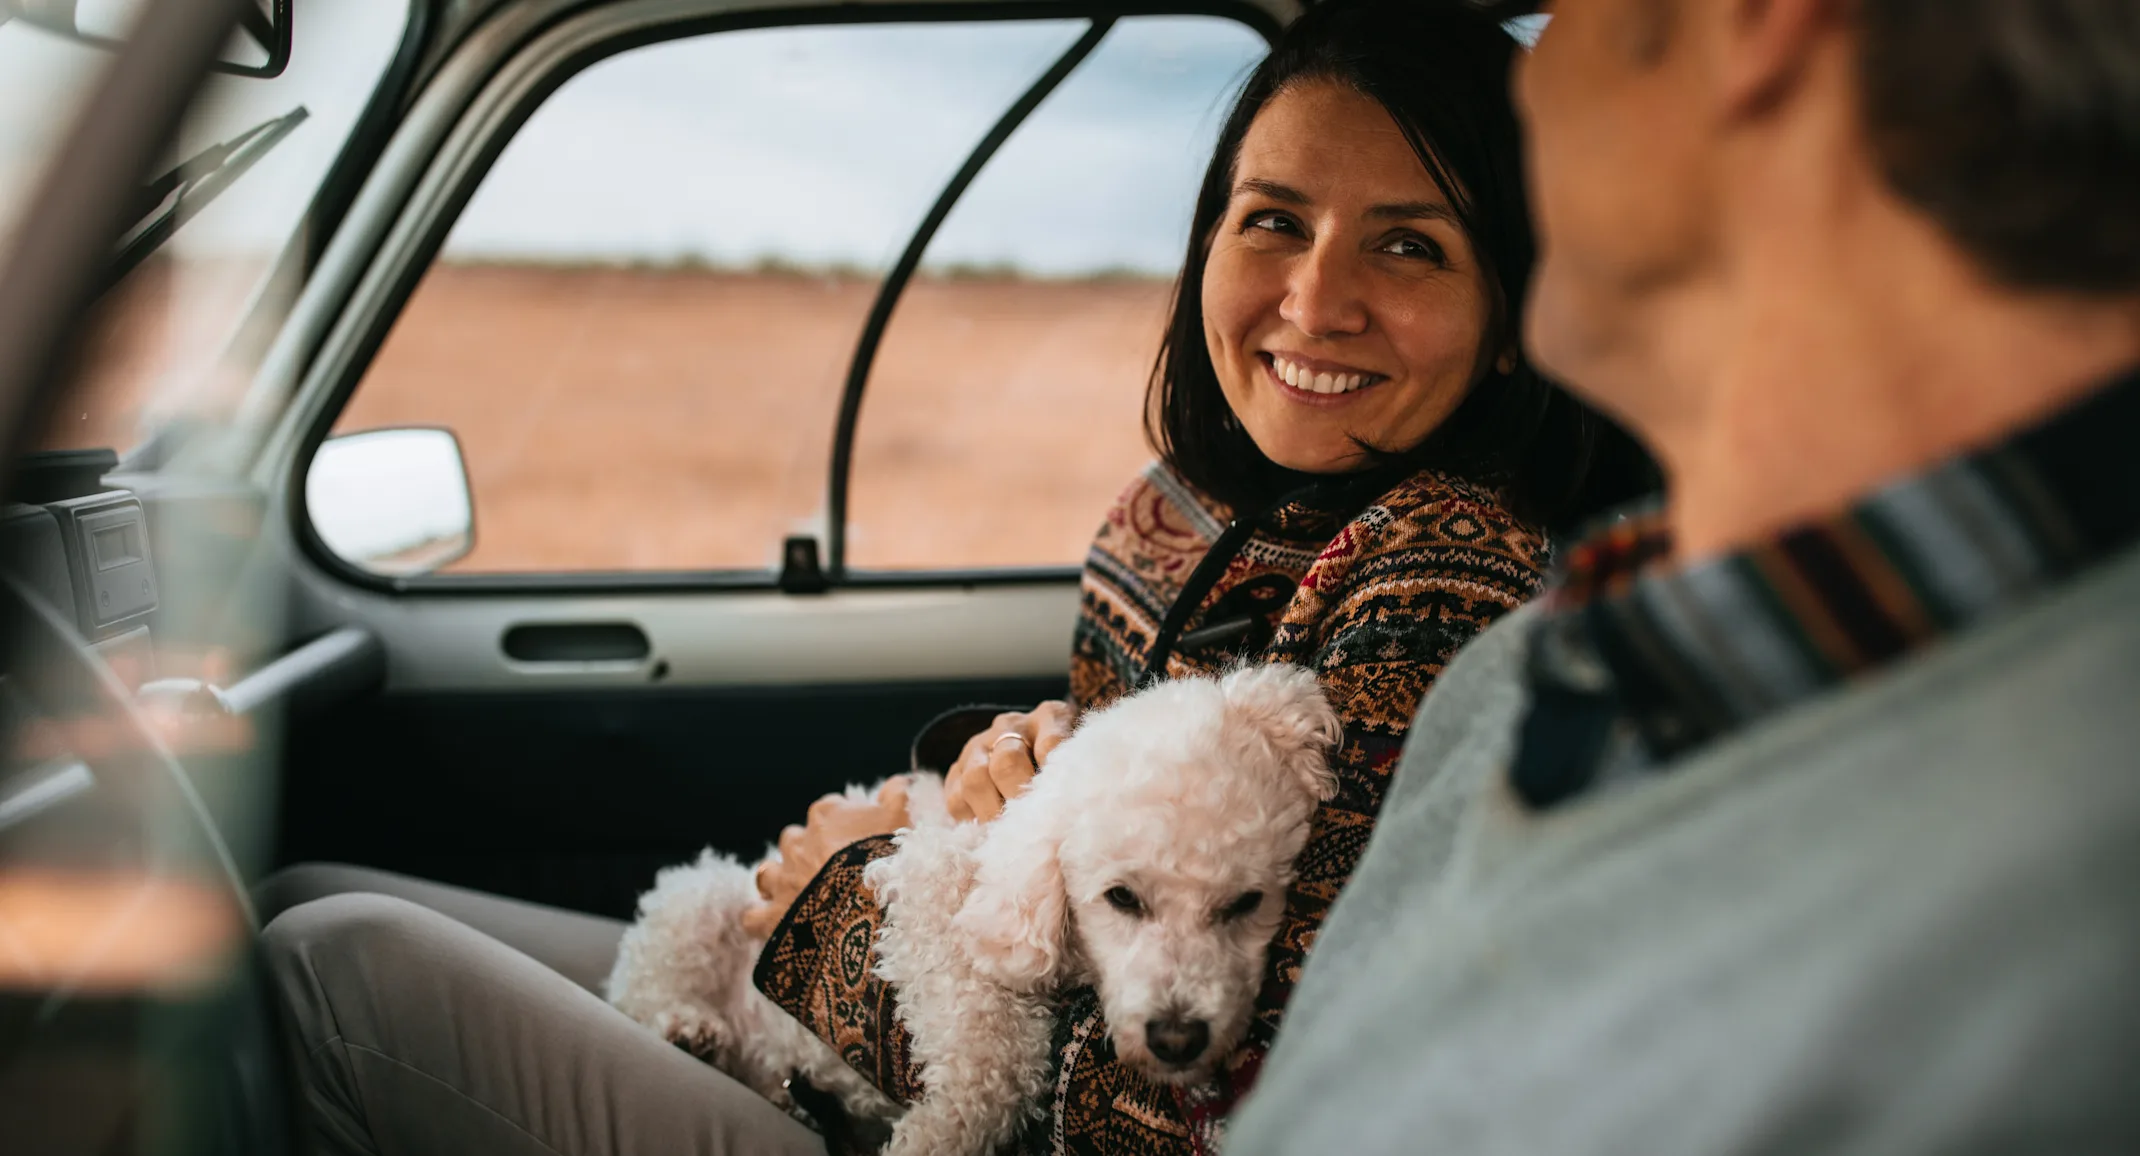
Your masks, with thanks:
<instances>
[{"instance_id":1,"label":"smiling woman's head including her long dark hair","mask_svg":"<svg viewBox=\"0 0 2140 1156\"><path fill-rule=\"evenodd\" d=\"M1522 32L1494 36L1515 51ZM1248 81L1147 409L1186 482L1263 507L1314 475L1434 467L1554 527L1650 484L1522 358L1537 250L1498 69L1462 43L1329 41Z\"/></svg>"}]
</instances>

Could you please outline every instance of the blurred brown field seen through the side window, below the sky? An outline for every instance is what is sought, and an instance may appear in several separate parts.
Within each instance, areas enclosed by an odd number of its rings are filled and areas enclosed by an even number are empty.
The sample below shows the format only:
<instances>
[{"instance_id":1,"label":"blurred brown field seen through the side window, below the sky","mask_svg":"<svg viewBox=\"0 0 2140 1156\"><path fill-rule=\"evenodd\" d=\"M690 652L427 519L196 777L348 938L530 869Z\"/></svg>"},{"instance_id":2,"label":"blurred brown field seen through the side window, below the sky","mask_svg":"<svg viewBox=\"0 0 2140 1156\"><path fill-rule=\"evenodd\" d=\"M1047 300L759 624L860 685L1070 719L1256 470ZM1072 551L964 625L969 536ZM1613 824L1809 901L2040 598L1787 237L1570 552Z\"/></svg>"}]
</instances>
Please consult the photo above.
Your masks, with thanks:
<instances>
[{"instance_id":1,"label":"blurred brown field seen through the side window, below the sky","mask_svg":"<svg viewBox=\"0 0 2140 1156\"><path fill-rule=\"evenodd\" d=\"M456 572L762 567L822 524L873 289L441 265L336 430L460 437L477 546ZM1149 458L1138 417L1166 298L1158 280L916 280L865 394L850 563L1079 561ZM143 362L118 347L103 377Z\"/></svg>"}]
</instances>

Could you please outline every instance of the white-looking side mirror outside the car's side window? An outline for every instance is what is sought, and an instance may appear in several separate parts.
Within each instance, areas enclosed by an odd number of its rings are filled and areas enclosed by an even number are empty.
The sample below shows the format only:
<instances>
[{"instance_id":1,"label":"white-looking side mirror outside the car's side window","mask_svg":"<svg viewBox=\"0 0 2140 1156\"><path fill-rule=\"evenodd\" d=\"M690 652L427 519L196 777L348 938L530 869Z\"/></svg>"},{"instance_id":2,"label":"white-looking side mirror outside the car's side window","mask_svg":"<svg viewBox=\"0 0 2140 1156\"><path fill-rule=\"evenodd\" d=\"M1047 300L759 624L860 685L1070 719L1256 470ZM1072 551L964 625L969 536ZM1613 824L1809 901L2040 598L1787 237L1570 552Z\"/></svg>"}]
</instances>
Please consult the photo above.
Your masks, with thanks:
<instances>
[{"instance_id":1,"label":"white-looking side mirror outside the car's side window","mask_svg":"<svg viewBox=\"0 0 2140 1156\"><path fill-rule=\"evenodd\" d=\"M349 565L411 578L475 548L469 471L452 430L330 437L304 475L312 531Z\"/></svg>"}]
</instances>

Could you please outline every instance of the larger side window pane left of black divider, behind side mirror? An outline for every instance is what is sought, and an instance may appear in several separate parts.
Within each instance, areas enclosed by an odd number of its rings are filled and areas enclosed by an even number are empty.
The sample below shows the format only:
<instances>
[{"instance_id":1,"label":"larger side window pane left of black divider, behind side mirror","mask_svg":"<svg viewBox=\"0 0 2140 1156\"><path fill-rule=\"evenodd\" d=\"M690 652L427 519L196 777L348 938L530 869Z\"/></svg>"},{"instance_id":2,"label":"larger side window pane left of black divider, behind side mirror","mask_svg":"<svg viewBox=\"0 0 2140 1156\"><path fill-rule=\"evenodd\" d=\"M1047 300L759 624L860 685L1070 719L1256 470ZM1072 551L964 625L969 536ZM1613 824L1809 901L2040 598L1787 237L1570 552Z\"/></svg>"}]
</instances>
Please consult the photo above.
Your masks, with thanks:
<instances>
[{"instance_id":1,"label":"larger side window pane left of black divider, behind side mirror","mask_svg":"<svg viewBox=\"0 0 2140 1156\"><path fill-rule=\"evenodd\" d=\"M770 567L822 531L884 270L1083 30L723 32L586 69L484 178L334 432L460 439L454 572Z\"/></svg>"}]
</instances>

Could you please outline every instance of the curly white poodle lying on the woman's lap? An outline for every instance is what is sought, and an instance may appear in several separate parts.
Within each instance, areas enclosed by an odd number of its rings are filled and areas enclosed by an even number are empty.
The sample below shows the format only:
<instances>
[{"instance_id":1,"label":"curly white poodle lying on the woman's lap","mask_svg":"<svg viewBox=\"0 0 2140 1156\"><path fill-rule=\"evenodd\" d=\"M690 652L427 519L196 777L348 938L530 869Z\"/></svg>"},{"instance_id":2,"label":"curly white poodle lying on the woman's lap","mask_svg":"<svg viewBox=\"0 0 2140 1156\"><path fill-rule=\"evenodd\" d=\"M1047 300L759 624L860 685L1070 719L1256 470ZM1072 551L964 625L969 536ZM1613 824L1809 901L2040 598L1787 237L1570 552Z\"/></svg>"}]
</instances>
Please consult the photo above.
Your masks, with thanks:
<instances>
[{"instance_id":1,"label":"curly white poodle lying on the woman's lap","mask_svg":"<svg viewBox=\"0 0 2140 1156\"><path fill-rule=\"evenodd\" d=\"M779 1105L800 1075L892 1122L895 1156L1008 1141L1046 1092L1066 987L1100 991L1124 1060L1201 1079L1248 1030L1338 736L1312 672L1252 666L1085 715L991 824L950 822L942 786L916 781L914 826L862 876L924 1090L903 1111L751 987L764 944L736 916L755 884L732 858L655 880L610 1000Z\"/></svg>"}]
</instances>

